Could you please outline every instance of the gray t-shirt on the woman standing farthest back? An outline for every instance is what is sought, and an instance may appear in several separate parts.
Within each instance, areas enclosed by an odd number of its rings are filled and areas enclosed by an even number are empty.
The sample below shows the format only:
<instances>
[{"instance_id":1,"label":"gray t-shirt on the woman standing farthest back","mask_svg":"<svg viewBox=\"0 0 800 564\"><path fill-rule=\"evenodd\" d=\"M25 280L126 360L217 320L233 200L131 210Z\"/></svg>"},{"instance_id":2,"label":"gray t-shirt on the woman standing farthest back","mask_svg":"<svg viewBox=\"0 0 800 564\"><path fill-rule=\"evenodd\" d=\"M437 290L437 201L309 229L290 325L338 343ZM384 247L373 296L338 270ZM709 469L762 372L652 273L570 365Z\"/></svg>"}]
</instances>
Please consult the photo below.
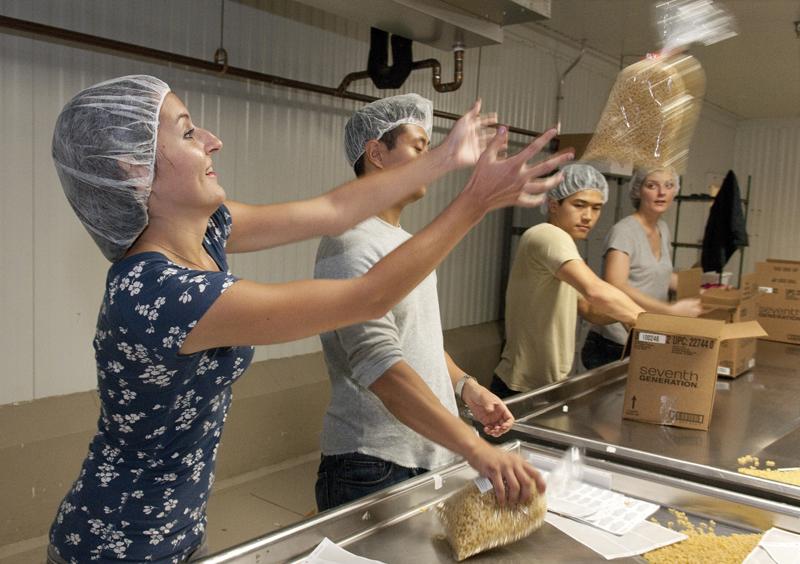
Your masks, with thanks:
<instances>
[{"instance_id":1,"label":"gray t-shirt on the woman standing farthest back","mask_svg":"<svg viewBox=\"0 0 800 564\"><path fill-rule=\"evenodd\" d=\"M608 232L603 256L611 249L628 255L630 259L628 283L648 296L666 302L669 299L669 282L672 277L669 227L661 220L657 225L661 233L661 258L659 260L656 260L653 255L644 227L632 215L618 221ZM621 345L624 345L628 338L628 331L621 323L594 326L592 330Z\"/></svg>"}]
</instances>

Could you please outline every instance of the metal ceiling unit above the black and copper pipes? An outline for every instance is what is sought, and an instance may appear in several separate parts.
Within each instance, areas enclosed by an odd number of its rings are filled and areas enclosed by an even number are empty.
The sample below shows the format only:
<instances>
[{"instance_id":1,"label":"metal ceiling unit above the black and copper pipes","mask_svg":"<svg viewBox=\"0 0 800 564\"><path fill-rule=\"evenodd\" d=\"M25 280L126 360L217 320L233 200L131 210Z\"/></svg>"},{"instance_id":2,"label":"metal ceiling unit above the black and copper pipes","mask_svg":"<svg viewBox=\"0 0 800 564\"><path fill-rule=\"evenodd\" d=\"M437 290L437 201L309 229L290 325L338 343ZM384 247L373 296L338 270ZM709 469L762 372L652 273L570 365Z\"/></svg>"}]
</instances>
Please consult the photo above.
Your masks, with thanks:
<instances>
[{"instance_id":1,"label":"metal ceiling unit above the black and copper pipes","mask_svg":"<svg viewBox=\"0 0 800 564\"><path fill-rule=\"evenodd\" d=\"M263 0L243 0L259 6ZM503 42L503 27L550 18L551 0L296 0L450 51Z\"/></svg>"}]
</instances>

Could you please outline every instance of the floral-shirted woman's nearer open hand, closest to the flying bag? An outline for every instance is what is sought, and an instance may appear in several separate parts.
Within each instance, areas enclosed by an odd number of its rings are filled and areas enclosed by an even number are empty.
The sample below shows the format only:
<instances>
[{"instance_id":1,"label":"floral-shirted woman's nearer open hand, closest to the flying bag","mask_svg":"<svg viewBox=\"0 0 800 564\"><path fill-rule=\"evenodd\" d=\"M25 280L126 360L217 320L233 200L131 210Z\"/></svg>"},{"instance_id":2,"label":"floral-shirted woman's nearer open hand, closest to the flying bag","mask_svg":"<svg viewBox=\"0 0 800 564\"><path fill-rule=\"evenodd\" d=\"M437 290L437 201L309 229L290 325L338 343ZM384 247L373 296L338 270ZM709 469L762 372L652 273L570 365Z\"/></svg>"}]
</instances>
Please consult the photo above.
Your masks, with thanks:
<instances>
[{"instance_id":1,"label":"floral-shirted woman's nearer open hand, closest to the flying bag","mask_svg":"<svg viewBox=\"0 0 800 564\"><path fill-rule=\"evenodd\" d=\"M506 206L533 207L541 204L544 194L561 182L562 175L539 177L573 158L572 152L564 152L539 163L528 164L555 136L556 130L551 129L516 155L506 157L508 129L499 127L478 159L463 194L475 198L485 212Z\"/></svg>"}]
</instances>

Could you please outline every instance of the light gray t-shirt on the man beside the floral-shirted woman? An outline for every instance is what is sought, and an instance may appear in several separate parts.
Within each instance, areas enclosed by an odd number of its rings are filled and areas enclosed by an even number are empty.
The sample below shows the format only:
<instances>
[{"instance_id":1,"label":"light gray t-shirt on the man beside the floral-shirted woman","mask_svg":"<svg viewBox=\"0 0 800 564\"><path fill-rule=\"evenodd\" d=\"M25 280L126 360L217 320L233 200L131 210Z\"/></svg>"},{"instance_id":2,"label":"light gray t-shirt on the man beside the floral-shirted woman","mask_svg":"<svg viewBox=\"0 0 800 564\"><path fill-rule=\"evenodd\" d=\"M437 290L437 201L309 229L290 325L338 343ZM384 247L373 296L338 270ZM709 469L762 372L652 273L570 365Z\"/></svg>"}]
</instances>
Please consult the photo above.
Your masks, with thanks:
<instances>
[{"instance_id":1,"label":"light gray t-shirt on the man beside the floral-shirted woman","mask_svg":"<svg viewBox=\"0 0 800 564\"><path fill-rule=\"evenodd\" d=\"M411 234L373 217L338 237L324 237L314 278L353 278ZM322 427L326 455L360 452L409 468L434 469L456 456L403 425L369 386L405 360L439 401L458 415L444 357L436 273L431 273L387 315L320 335L331 378L331 403Z\"/></svg>"}]
</instances>

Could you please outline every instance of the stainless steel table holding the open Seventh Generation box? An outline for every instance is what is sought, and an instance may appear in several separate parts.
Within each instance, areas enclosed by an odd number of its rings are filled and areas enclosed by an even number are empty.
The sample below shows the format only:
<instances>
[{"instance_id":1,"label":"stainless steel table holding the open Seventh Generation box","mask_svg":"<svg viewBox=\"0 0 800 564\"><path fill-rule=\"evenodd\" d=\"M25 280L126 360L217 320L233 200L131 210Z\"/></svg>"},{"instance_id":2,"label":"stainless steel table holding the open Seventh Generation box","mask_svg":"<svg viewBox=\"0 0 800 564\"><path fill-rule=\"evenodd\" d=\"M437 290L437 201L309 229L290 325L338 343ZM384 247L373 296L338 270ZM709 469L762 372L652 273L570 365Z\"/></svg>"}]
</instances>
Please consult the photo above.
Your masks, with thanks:
<instances>
[{"instance_id":1,"label":"stainless steel table holding the open Seventh Generation box","mask_svg":"<svg viewBox=\"0 0 800 564\"><path fill-rule=\"evenodd\" d=\"M747 454L762 468L800 467L800 347L760 341L754 369L717 381L708 431L622 419L627 369L617 362L510 399L512 436L800 504L800 487L737 472Z\"/></svg>"}]
</instances>

